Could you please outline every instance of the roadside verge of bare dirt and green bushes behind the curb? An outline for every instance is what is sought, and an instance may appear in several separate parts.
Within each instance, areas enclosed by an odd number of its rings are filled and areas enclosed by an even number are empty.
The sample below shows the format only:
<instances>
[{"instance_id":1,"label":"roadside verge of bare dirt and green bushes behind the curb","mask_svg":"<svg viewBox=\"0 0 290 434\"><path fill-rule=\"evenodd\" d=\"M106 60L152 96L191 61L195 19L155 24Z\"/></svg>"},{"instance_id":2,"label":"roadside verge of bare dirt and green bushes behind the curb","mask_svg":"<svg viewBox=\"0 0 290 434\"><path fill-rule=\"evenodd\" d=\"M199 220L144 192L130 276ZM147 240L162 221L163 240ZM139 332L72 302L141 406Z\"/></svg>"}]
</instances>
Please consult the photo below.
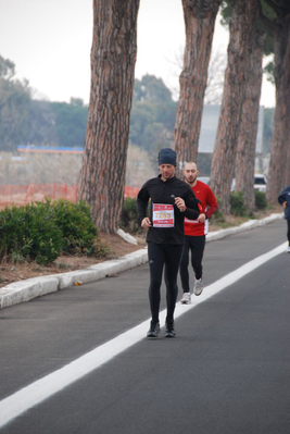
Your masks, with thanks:
<instances>
[{"instance_id":1,"label":"roadside verge of bare dirt and green bushes behind the curb","mask_svg":"<svg viewBox=\"0 0 290 434\"><path fill-rule=\"evenodd\" d=\"M243 212L238 215L243 208L236 203L232 204L235 214L225 215L218 199L219 209L210 220L210 232L281 212L278 204L265 204L264 193L256 191L255 197L256 210L251 215ZM27 227L28 222L30 227ZM0 288L26 278L86 269L146 247L146 231L138 224L136 198L125 199L119 226L138 244L96 230L89 208L83 204L60 200L0 211L1 240L5 233L0 252Z\"/></svg>"}]
</instances>

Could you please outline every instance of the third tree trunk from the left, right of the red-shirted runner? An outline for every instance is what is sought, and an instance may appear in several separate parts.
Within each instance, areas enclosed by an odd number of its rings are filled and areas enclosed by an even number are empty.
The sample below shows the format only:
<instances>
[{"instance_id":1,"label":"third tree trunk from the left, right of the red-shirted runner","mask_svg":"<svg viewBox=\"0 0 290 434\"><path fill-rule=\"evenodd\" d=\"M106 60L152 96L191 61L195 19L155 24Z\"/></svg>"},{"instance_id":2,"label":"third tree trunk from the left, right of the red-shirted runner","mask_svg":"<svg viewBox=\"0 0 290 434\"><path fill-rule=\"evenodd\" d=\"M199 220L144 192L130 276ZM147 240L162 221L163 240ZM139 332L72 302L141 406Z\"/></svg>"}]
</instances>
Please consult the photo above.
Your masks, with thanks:
<instances>
[{"instance_id":1,"label":"third tree trunk from the left, right of the red-shirted runner","mask_svg":"<svg viewBox=\"0 0 290 434\"><path fill-rule=\"evenodd\" d=\"M222 199L225 213L230 211L230 187L247 87L247 55L256 13L256 0L235 0L231 4L228 64L211 166L211 186L215 195Z\"/></svg>"}]
</instances>

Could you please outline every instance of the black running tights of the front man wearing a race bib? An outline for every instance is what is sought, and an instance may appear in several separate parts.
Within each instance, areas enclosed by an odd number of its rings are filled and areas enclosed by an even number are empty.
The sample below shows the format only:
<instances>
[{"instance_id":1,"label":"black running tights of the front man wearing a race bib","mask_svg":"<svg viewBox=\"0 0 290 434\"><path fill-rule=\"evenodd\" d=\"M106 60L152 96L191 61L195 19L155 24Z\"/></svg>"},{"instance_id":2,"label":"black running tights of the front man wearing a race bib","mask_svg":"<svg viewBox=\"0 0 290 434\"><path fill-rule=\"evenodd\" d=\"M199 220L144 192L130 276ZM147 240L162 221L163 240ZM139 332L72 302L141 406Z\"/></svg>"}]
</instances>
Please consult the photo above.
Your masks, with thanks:
<instances>
[{"instance_id":1,"label":"black running tights of the front man wearing a race bib","mask_svg":"<svg viewBox=\"0 0 290 434\"><path fill-rule=\"evenodd\" d=\"M184 246L173 244L148 243L148 259L150 269L149 301L152 321L159 321L160 311L160 288L164 269L166 284L166 320L173 320L178 286L177 275Z\"/></svg>"}]
</instances>

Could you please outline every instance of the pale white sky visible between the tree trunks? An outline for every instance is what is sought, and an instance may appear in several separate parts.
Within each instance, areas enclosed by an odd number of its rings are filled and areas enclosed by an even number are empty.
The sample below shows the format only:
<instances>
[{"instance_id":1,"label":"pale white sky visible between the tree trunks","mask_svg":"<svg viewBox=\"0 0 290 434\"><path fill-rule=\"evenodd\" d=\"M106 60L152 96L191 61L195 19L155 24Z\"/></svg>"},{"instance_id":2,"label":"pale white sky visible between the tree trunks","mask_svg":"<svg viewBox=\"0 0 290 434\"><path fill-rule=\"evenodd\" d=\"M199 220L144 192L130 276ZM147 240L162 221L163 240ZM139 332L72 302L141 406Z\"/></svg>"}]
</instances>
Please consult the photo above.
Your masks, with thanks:
<instances>
[{"instance_id":1,"label":"pale white sky visible between the tree trunks","mask_svg":"<svg viewBox=\"0 0 290 434\"><path fill-rule=\"evenodd\" d=\"M34 98L89 101L92 0L0 0L0 55L27 78ZM226 53L228 34L216 21L213 52ZM173 65L185 45L181 0L140 0L136 77L161 77L178 86ZM275 106L265 78L261 104Z\"/></svg>"}]
</instances>

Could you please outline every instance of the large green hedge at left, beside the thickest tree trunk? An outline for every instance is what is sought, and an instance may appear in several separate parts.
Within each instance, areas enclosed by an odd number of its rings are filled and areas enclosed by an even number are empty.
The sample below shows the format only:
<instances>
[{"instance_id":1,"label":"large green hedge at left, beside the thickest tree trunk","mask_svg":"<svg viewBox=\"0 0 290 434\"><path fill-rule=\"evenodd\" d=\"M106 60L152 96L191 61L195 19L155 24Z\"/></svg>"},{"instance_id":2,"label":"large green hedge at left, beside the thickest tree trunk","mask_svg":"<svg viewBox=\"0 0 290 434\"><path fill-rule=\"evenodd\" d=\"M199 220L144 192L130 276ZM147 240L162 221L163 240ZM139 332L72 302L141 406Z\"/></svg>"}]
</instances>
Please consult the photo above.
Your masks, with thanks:
<instances>
[{"instance_id":1,"label":"large green hedge at left, beside the thickest tree trunk","mask_svg":"<svg viewBox=\"0 0 290 434\"><path fill-rule=\"evenodd\" d=\"M108 248L85 202L65 200L0 211L0 260L53 262L61 253L104 257Z\"/></svg>"}]
</instances>

